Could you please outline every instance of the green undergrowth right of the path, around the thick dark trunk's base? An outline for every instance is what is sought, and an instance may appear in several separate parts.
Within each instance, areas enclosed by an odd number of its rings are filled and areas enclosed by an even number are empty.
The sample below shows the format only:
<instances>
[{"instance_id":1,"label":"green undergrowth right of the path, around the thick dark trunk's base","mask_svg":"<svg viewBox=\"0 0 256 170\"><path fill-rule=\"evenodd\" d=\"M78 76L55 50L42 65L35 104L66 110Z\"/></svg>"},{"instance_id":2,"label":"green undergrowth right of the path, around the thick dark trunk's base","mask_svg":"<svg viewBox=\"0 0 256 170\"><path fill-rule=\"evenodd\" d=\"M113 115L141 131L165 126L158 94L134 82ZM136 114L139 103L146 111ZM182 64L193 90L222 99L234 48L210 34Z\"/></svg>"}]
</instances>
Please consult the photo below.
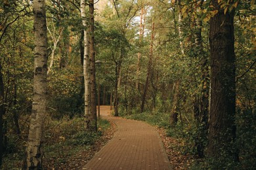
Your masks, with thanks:
<instances>
[{"instance_id":1,"label":"green undergrowth right of the path, around the thick dark trunk's base","mask_svg":"<svg viewBox=\"0 0 256 170\"><path fill-rule=\"evenodd\" d=\"M169 114L163 112L125 112L121 111L121 116L133 120L141 120L165 129L166 137L171 137L178 141L178 143L169 143L170 152L180 152L183 156L189 156L194 163L192 163L187 169L255 169L256 167L256 126L255 122L249 122L255 120L251 118L251 114L237 114L240 116L237 118L237 137L236 143L230 143L230 146L234 145L238 149L240 161L228 160L230 156L226 156L223 152L219 153L219 158L213 160L207 158L207 150L204 152L204 157L199 158L196 150L196 143L200 142L204 146L207 146L206 137L203 138L200 135L200 125L190 120L190 122L181 122L179 120L176 126L169 126ZM244 116L244 117L242 117ZM207 148L206 148L207 149ZM174 155L177 156L177 155ZM179 168L178 168L179 169Z\"/></svg>"}]
</instances>

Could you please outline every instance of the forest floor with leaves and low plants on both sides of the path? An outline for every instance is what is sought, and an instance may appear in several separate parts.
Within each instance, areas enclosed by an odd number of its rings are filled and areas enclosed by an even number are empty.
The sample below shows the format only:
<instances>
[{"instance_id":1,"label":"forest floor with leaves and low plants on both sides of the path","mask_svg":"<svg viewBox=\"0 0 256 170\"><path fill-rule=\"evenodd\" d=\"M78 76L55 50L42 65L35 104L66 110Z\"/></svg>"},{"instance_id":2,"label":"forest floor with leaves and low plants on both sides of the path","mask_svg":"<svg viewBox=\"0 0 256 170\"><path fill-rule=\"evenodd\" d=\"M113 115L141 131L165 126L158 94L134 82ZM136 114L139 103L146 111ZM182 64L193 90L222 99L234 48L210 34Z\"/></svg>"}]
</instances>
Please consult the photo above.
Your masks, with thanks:
<instances>
[{"instance_id":1,"label":"forest floor with leaves and low plants on both sides of the path","mask_svg":"<svg viewBox=\"0 0 256 170\"><path fill-rule=\"evenodd\" d=\"M101 112L110 112L109 107L102 106L100 110ZM99 133L95 134L96 136L89 136L89 138L93 139L93 143L83 144L81 141L87 140L88 136L83 129L82 118L54 121L49 121L51 124L47 126L48 130L45 132L50 135L45 139L44 169L82 169L95 156L96 152L114 137L117 131L116 124L111 122L111 120L108 123L106 120L101 119L99 120ZM171 167L173 169L188 169L194 159L182 151L182 148L186 146L185 141L167 136L167 129L157 126L154 126L154 128L161 137ZM79 138L74 138L74 136ZM18 142L13 143L16 144L13 145L16 146L14 147L15 149L12 149L11 153L4 156L2 169L10 169L11 167L19 169L18 167L22 167L22 153L24 152L24 143L26 142L23 139L17 139L16 141ZM67 143L68 141L72 143Z\"/></svg>"}]
</instances>

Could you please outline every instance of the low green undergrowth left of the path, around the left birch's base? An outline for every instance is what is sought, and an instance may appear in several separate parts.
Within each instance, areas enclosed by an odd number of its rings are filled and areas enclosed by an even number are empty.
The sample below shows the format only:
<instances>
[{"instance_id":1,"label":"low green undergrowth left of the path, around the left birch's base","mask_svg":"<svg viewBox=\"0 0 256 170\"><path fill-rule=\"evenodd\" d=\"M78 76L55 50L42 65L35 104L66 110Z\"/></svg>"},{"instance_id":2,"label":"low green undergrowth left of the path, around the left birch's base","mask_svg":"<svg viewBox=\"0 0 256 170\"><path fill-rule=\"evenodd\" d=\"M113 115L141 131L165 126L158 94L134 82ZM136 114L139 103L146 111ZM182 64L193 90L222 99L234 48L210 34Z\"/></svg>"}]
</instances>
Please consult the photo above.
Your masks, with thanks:
<instances>
[{"instance_id":1,"label":"low green undergrowth left of the path, around the left birch's base","mask_svg":"<svg viewBox=\"0 0 256 170\"><path fill-rule=\"evenodd\" d=\"M43 166L46 169L58 169L72 156L93 147L93 144L102 137L102 133L110 127L107 120L98 120L98 132L89 132L85 128L83 118L64 117L61 120L48 118L45 122L43 142ZM20 169L24 160L26 139L9 133L7 152L3 156L3 165L0 169Z\"/></svg>"}]
</instances>

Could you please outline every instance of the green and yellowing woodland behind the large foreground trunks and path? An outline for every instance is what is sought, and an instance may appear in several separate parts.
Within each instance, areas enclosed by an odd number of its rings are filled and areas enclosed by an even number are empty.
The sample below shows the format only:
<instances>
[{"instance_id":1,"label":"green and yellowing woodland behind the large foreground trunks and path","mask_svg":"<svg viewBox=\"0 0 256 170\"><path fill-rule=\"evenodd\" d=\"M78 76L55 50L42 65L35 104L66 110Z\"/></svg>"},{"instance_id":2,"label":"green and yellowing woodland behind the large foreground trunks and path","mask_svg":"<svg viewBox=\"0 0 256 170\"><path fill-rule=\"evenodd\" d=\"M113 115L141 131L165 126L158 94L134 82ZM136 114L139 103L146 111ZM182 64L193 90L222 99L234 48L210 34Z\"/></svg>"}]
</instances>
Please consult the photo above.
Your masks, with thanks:
<instances>
[{"instance_id":1,"label":"green and yellowing woodland behind the large foreground trunks and path","mask_svg":"<svg viewBox=\"0 0 256 170\"><path fill-rule=\"evenodd\" d=\"M100 105L114 104L115 116L148 121L182 141L177 149L195 160L188 168L253 169L255 1L218 3L219 11L208 0L95 2L95 60L101 61L96 64L96 87L100 85ZM3 169L20 167L30 126L36 41L32 5L26 0L0 1ZM229 145L239 153L239 161L230 160L226 153L220 152L219 159L205 154L212 66L209 25L211 17L220 11L234 12L236 140ZM60 153L64 143L74 144L72 150L89 147L101 132L87 132L83 127L84 27L80 1L47 0L46 12L49 59L45 158L53 156L50 151L58 146L54 156L60 163L68 157ZM79 127L79 133L70 126Z\"/></svg>"}]
</instances>

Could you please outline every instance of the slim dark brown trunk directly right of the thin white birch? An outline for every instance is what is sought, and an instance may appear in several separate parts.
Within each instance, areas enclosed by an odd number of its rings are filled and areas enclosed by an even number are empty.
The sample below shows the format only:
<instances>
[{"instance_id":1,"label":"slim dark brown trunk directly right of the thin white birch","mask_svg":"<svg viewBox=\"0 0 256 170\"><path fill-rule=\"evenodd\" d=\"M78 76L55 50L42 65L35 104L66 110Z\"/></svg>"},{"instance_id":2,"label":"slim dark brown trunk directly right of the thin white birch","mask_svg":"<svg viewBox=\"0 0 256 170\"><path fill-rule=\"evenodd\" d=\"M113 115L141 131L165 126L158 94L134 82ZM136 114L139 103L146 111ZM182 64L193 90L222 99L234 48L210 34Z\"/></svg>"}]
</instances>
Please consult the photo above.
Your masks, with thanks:
<instances>
[{"instance_id":1,"label":"slim dark brown trunk directly right of the thin white birch","mask_svg":"<svg viewBox=\"0 0 256 170\"><path fill-rule=\"evenodd\" d=\"M93 129L97 131L97 112L96 112L96 78L95 78L95 19L94 19L94 1L89 0L89 16L90 16L90 80L91 80L91 114L93 115Z\"/></svg>"}]
</instances>

